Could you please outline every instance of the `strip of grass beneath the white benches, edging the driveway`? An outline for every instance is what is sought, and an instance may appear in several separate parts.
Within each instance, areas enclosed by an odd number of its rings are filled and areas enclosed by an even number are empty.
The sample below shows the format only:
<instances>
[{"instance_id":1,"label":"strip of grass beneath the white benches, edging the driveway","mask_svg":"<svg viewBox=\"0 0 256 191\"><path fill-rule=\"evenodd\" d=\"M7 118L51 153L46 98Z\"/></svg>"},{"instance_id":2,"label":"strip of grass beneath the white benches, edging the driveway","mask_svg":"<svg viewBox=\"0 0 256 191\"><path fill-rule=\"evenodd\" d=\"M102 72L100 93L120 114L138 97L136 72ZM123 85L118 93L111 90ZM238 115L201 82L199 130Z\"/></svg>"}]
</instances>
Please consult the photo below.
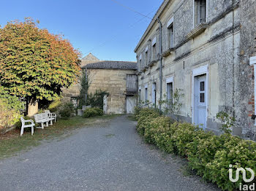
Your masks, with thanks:
<instances>
[{"instance_id":1,"label":"strip of grass beneath the white benches, edging the driveway","mask_svg":"<svg viewBox=\"0 0 256 191\"><path fill-rule=\"evenodd\" d=\"M31 130L29 129L24 132L23 136L20 136L20 130L13 130L4 136L0 136L0 160L38 146L45 140L64 139L72 134L72 130L93 125L105 125L116 116L118 115L103 115L91 118L72 117L69 120L57 120L53 126L44 129L36 128L34 136L31 136Z\"/></svg>"}]
</instances>

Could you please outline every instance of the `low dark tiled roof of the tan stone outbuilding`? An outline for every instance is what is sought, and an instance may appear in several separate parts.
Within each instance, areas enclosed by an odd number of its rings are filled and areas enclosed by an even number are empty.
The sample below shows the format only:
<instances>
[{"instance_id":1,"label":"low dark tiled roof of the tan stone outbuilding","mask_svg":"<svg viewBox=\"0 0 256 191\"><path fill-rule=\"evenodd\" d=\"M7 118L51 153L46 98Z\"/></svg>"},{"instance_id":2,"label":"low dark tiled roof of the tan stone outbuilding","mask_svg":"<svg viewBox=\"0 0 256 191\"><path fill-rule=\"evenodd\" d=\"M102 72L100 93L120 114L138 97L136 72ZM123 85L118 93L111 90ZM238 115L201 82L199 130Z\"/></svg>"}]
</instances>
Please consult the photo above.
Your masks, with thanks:
<instances>
[{"instance_id":1,"label":"low dark tiled roof of the tan stone outbuilding","mask_svg":"<svg viewBox=\"0 0 256 191\"><path fill-rule=\"evenodd\" d=\"M82 69L128 69L137 70L137 63L126 61L99 61L82 66Z\"/></svg>"}]
</instances>

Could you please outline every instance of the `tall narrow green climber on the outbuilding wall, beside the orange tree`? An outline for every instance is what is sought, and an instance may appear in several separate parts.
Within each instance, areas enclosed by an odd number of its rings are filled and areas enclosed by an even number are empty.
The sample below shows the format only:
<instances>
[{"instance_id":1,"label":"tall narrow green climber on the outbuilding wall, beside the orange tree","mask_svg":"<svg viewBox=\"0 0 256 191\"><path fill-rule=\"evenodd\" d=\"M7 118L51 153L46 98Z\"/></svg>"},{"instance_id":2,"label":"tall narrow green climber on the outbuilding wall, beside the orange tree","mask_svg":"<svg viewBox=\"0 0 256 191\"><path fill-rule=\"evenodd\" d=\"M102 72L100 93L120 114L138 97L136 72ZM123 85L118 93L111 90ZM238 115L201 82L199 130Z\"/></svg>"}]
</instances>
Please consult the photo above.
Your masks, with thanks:
<instances>
[{"instance_id":1,"label":"tall narrow green climber on the outbuilding wall, beside the orange tree","mask_svg":"<svg viewBox=\"0 0 256 191\"><path fill-rule=\"evenodd\" d=\"M86 77L86 73L84 72L80 77L81 89L80 89L80 95L78 97L78 101L79 101L78 109L82 109L83 106L88 105L88 101L86 98L86 95L88 95L88 89L89 89L88 76L89 75L87 75Z\"/></svg>"}]
</instances>

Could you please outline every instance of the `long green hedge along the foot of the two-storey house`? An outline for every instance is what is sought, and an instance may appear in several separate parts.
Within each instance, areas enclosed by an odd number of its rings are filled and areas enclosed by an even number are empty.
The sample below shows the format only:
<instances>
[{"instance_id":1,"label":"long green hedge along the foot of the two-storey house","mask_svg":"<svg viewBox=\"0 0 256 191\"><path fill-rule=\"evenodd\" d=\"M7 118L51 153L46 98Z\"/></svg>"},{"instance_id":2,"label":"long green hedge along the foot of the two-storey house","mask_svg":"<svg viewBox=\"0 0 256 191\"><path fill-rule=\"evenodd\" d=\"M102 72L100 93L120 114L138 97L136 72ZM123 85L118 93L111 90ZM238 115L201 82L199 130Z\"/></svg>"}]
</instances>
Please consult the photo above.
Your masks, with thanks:
<instances>
[{"instance_id":1,"label":"long green hedge along the foot of the two-storey house","mask_svg":"<svg viewBox=\"0 0 256 191\"><path fill-rule=\"evenodd\" d=\"M170 117L160 116L155 109L140 109L136 119L138 133L148 143L165 152L187 157L189 168L222 190L236 190L240 183L246 184L242 174L238 182L230 182L230 164L233 165L233 177L239 167L252 168L256 173L255 141L227 133L216 136L190 123L173 122Z\"/></svg>"}]
</instances>

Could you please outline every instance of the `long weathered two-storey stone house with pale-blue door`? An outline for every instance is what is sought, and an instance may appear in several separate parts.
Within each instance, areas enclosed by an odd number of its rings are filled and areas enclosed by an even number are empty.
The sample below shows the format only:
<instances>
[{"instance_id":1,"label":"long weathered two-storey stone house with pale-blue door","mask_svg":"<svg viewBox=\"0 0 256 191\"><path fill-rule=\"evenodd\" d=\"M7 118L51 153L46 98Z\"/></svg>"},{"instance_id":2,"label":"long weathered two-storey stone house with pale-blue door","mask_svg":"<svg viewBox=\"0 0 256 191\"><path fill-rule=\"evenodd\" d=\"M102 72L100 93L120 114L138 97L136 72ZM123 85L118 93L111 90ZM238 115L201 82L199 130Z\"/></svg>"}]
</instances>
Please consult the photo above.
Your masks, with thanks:
<instances>
[{"instance_id":1,"label":"long weathered two-storey stone house with pale-blue door","mask_svg":"<svg viewBox=\"0 0 256 191\"><path fill-rule=\"evenodd\" d=\"M140 100L159 105L181 89L179 120L255 139L256 1L165 0L135 48ZM166 95L166 98L165 96Z\"/></svg>"}]
</instances>

